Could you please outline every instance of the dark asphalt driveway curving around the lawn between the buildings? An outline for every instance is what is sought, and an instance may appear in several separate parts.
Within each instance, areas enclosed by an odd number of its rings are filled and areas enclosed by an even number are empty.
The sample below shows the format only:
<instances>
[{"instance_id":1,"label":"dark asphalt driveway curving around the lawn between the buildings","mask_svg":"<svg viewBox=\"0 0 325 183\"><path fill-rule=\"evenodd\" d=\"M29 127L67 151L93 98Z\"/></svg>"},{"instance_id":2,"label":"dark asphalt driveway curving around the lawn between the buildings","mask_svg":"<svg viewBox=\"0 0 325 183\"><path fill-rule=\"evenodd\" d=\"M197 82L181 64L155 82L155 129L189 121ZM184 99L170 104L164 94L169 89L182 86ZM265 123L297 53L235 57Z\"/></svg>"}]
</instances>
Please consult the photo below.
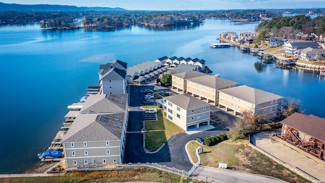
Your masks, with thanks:
<instances>
[{"instance_id":1,"label":"dark asphalt driveway curving around the lawn between the buildings","mask_svg":"<svg viewBox=\"0 0 325 183\"><path fill-rule=\"evenodd\" d=\"M165 146L155 154L147 154L143 149L143 128L142 121L144 120L143 110L140 109L142 105L142 89L153 89L153 86L131 86L130 94L130 110L127 126L125 153L123 163L158 163L159 165L166 165L174 167L179 170L189 171L192 168L186 151L185 144L190 140L195 140L196 137L206 138L218 135L228 131L228 126L232 124L235 119L234 116L225 113L217 108L213 109L211 115L220 119L220 123L215 123L215 129L204 131L192 135L180 133L171 137Z\"/></svg>"}]
</instances>

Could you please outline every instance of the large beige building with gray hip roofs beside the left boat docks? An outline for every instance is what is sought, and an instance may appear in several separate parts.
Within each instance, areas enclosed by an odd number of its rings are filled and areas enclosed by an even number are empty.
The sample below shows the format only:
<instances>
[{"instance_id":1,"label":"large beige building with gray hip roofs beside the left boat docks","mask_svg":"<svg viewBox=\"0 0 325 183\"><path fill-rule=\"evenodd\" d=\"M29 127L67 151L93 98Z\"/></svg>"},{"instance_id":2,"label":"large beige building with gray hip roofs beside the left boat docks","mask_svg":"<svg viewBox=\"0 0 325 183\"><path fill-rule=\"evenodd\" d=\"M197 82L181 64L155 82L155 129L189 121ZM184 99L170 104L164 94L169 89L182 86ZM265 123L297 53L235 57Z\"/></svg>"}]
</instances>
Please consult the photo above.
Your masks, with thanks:
<instances>
[{"instance_id":1,"label":"large beige building with gray hip roofs beside the left boat docks","mask_svg":"<svg viewBox=\"0 0 325 183\"><path fill-rule=\"evenodd\" d=\"M66 168L122 163L127 119L127 94L90 95L62 139Z\"/></svg>"}]
</instances>

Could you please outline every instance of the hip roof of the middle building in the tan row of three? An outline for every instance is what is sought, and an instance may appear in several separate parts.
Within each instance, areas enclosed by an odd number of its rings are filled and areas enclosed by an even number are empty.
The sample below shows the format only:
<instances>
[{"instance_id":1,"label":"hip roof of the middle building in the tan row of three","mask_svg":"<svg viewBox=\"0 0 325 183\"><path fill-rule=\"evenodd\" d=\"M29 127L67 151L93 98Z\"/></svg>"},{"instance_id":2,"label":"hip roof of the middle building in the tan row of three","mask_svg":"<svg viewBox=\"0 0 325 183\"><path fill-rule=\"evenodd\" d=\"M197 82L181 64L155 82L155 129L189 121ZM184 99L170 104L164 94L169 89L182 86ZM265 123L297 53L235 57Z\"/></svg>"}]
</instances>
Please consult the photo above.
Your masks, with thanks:
<instances>
[{"instance_id":1,"label":"hip roof of the middle building in the tan row of three","mask_svg":"<svg viewBox=\"0 0 325 183\"><path fill-rule=\"evenodd\" d=\"M228 79L223 79L211 75L205 75L205 76L199 76L199 77L194 77L194 78L189 78L187 79L189 81L199 83L211 88L215 88L219 90L220 88L228 87L228 86L233 86L239 84L238 82L231 81Z\"/></svg>"}]
</instances>

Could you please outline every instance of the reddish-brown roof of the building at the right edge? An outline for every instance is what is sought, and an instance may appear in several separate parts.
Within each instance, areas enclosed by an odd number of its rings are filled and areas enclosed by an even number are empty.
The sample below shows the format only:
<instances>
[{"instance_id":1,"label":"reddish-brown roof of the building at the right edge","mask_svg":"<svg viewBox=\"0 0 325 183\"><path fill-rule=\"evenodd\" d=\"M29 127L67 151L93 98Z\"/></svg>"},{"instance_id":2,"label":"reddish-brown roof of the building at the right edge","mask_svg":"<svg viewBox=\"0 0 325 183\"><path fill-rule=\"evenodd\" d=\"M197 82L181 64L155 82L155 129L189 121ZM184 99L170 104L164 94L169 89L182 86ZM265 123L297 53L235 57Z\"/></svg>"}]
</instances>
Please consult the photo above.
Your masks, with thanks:
<instances>
[{"instance_id":1,"label":"reddish-brown roof of the building at the right edge","mask_svg":"<svg viewBox=\"0 0 325 183\"><path fill-rule=\"evenodd\" d=\"M297 129L318 140L325 141L325 119L315 115L296 112L281 121L282 124Z\"/></svg>"}]
</instances>

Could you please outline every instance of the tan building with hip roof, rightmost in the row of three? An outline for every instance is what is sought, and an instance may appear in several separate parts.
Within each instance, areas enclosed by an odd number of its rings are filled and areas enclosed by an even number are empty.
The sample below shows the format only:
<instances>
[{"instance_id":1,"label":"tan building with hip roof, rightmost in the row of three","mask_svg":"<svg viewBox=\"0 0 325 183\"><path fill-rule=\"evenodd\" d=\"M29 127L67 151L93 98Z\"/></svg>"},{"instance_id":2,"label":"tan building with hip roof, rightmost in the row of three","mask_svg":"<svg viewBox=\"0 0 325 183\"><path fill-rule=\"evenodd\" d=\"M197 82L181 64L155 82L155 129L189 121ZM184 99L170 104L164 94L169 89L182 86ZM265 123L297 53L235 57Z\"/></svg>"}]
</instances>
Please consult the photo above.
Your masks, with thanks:
<instances>
[{"instance_id":1,"label":"tan building with hip roof, rightmost in the row of three","mask_svg":"<svg viewBox=\"0 0 325 183\"><path fill-rule=\"evenodd\" d=\"M278 117L281 96L246 85L219 90L219 108L241 116L244 111L264 115L268 119Z\"/></svg>"}]
</instances>

